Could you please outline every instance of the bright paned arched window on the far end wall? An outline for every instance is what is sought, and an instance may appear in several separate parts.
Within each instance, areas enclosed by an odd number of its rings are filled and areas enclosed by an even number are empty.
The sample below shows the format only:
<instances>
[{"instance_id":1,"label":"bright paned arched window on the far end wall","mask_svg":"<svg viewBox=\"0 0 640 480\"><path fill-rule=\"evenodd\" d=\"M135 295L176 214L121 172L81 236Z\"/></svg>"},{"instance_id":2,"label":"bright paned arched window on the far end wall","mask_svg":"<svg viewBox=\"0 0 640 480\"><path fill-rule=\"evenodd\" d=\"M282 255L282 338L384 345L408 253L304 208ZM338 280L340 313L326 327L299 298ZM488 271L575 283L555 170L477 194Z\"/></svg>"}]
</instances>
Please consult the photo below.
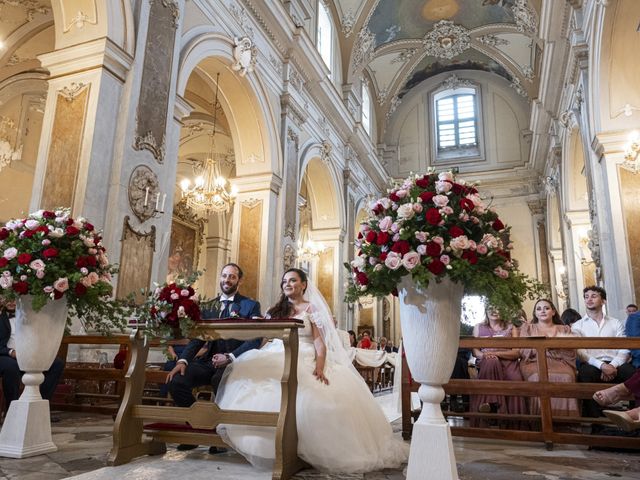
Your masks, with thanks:
<instances>
[{"instance_id":1,"label":"bright paned arched window on the far end wall","mask_svg":"<svg viewBox=\"0 0 640 480\"><path fill-rule=\"evenodd\" d=\"M436 155L440 159L480 154L478 91L448 89L434 96Z\"/></svg>"}]
</instances>

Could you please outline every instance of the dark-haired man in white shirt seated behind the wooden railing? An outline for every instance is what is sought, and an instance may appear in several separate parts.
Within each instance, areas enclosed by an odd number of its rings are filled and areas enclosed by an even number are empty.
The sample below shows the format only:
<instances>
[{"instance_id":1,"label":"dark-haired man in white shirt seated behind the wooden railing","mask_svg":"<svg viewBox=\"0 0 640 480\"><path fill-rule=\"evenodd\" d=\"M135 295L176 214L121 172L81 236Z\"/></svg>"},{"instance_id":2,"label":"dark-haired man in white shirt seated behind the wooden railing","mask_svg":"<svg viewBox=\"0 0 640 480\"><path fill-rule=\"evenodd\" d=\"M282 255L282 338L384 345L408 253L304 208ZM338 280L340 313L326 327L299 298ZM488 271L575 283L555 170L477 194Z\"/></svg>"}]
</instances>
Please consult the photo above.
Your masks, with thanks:
<instances>
[{"instance_id":1,"label":"dark-haired man in white shirt seated behind the wooden railing","mask_svg":"<svg viewBox=\"0 0 640 480\"><path fill-rule=\"evenodd\" d=\"M602 307L607 303L604 288L591 286L583 291L587 314L573 325L571 330L583 337L624 337L624 323L605 315ZM621 383L629 379L635 369L628 363L627 349L581 349L578 358L578 381L588 383ZM593 400L584 400L582 414L585 417L601 416L601 409Z\"/></svg>"}]
</instances>

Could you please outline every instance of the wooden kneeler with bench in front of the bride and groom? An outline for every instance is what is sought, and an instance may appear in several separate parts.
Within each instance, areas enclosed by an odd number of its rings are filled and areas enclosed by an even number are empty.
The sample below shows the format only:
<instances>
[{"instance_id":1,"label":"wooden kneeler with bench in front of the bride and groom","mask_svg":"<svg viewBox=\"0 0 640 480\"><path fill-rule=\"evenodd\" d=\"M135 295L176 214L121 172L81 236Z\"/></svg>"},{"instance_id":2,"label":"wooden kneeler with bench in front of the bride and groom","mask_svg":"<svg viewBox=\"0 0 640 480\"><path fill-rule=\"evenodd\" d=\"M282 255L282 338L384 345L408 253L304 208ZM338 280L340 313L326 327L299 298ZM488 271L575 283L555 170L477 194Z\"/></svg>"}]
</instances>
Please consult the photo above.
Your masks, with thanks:
<instances>
[{"instance_id":1,"label":"wooden kneeler with bench in front of the bride and groom","mask_svg":"<svg viewBox=\"0 0 640 480\"><path fill-rule=\"evenodd\" d=\"M196 402L189 408L142 405L149 343L143 329L134 330L130 337L131 360L125 375L125 392L113 427L113 448L108 464L121 465L142 455L163 454L167 443L227 447L215 433L216 426L224 423L276 427L273 480L286 480L307 468L308 465L298 457L296 429L298 329L303 326L297 319L224 319L198 323L191 332L193 338L203 340L282 339L284 371L279 413L222 410L213 402ZM144 425L143 420L156 423Z\"/></svg>"}]
</instances>

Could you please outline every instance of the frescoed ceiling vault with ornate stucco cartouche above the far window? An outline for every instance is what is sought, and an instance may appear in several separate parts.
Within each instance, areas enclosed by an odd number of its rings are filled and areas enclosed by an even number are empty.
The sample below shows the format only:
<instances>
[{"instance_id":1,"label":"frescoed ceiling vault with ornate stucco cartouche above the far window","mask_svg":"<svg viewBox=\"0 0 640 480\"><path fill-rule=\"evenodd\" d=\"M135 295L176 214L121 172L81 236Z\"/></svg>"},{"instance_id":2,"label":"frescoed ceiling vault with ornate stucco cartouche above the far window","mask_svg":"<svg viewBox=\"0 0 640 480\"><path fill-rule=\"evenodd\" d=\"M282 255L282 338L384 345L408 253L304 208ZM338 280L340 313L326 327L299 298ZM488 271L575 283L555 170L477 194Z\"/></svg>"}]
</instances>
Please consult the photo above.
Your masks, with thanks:
<instances>
[{"instance_id":1,"label":"frescoed ceiling vault with ornate stucco cartouche above the far window","mask_svg":"<svg viewBox=\"0 0 640 480\"><path fill-rule=\"evenodd\" d=\"M422 81L460 69L493 73L536 98L540 3L333 0L349 71L372 80L380 113L387 114Z\"/></svg>"}]
</instances>

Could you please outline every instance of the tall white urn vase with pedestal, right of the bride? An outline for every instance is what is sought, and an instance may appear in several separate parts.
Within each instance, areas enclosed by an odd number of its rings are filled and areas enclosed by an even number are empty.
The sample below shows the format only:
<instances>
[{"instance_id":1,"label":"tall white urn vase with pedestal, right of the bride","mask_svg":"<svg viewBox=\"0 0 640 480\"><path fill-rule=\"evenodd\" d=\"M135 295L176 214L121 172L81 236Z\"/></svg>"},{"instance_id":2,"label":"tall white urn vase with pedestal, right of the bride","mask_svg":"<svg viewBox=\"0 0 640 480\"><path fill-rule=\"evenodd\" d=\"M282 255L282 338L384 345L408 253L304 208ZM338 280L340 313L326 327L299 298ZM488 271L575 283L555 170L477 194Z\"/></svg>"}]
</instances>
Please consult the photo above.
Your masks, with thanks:
<instances>
[{"instance_id":1,"label":"tall white urn vase with pedestal, right of the bride","mask_svg":"<svg viewBox=\"0 0 640 480\"><path fill-rule=\"evenodd\" d=\"M440 403L458 351L463 287L445 279L421 289L409 275L398 287L402 344L422 400L422 412L413 425L407 479L457 480L451 430Z\"/></svg>"}]
</instances>

